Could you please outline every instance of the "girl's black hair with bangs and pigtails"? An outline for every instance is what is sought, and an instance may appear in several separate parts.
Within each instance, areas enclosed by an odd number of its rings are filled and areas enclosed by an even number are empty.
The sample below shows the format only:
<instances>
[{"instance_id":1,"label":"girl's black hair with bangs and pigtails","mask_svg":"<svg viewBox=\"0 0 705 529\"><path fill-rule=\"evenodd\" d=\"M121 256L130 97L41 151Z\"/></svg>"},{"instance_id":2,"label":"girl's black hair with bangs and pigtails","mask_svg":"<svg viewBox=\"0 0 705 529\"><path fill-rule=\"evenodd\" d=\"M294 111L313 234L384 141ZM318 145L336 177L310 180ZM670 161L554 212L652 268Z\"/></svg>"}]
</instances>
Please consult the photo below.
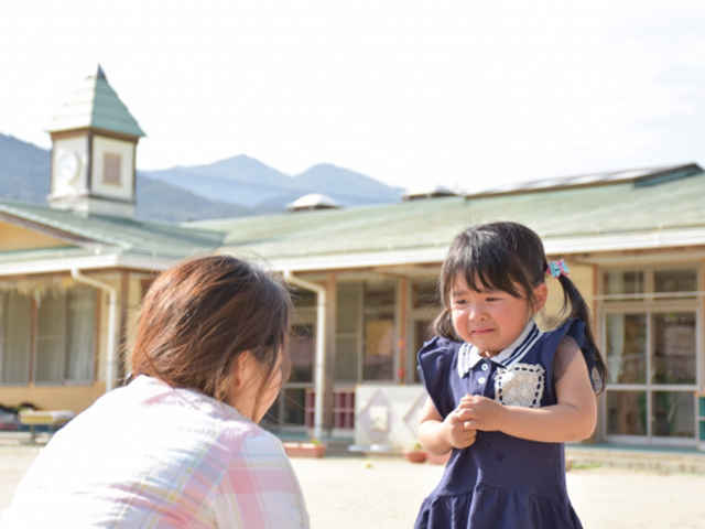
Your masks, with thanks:
<instances>
[{"instance_id":1,"label":"girl's black hair with bangs and pigtails","mask_svg":"<svg viewBox=\"0 0 705 529\"><path fill-rule=\"evenodd\" d=\"M453 328L451 314L451 290L456 276L462 274L473 290L501 290L514 298L525 296L533 304L533 290L545 281L547 267L543 242L527 226L506 222L467 228L455 237L441 268L438 290L443 310L434 322L435 333L449 339L460 339ZM590 359L603 388L607 368L593 336L587 303L567 276L561 274L557 279L563 288L562 314L585 323L584 349L595 356Z\"/></svg>"}]
</instances>

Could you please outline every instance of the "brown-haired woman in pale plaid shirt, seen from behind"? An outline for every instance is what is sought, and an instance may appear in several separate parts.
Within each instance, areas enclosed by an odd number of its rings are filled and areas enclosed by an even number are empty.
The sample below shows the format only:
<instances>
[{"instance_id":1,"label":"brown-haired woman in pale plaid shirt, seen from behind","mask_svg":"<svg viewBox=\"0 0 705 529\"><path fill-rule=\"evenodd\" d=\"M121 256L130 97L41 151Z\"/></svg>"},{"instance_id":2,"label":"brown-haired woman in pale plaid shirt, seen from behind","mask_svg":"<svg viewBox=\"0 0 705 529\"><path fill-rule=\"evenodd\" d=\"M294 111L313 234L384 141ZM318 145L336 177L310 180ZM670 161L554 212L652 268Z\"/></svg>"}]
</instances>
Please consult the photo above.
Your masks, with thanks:
<instances>
[{"instance_id":1,"label":"brown-haired woman in pale plaid shirt, seen from behind","mask_svg":"<svg viewBox=\"0 0 705 529\"><path fill-rule=\"evenodd\" d=\"M54 435L7 527L307 528L283 447L257 424L288 376L290 310L281 283L231 257L162 273L131 382Z\"/></svg>"}]
</instances>

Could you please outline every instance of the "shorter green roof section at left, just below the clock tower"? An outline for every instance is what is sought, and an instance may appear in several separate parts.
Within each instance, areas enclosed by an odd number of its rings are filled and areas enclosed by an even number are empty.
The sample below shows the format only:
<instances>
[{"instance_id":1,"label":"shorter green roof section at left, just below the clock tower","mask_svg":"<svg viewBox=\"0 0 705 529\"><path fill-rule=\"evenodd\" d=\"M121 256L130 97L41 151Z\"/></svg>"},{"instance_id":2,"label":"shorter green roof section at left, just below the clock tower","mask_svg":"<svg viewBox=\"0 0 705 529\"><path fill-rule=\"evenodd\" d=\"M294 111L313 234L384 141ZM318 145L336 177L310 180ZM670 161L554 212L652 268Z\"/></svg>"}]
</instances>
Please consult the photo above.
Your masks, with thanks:
<instances>
[{"instance_id":1,"label":"shorter green roof section at left, just below the clock tower","mask_svg":"<svg viewBox=\"0 0 705 529\"><path fill-rule=\"evenodd\" d=\"M105 215L82 215L66 209L0 202L0 214L37 227L59 230L82 239L67 246L105 247L111 251L180 259L212 251L220 246L223 234L174 224L150 223ZM47 250L56 252L56 249ZM10 257L6 252L6 258ZM11 252L17 253L17 252ZM15 255L15 259L18 256Z\"/></svg>"}]
</instances>

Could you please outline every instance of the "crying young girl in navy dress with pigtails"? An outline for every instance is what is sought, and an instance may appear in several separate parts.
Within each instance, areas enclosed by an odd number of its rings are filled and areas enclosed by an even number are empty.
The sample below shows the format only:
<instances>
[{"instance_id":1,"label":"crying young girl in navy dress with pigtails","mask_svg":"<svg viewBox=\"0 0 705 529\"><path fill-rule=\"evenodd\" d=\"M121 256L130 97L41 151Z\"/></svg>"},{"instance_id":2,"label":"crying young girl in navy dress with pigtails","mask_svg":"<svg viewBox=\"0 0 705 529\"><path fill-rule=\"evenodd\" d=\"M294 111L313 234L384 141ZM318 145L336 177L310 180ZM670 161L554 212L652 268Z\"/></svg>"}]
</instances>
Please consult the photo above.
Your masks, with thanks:
<instances>
[{"instance_id":1,"label":"crying young girl in navy dress with pigtails","mask_svg":"<svg viewBox=\"0 0 705 529\"><path fill-rule=\"evenodd\" d=\"M550 332L533 316L546 273L570 317ZM605 365L567 268L516 223L459 234L443 263L438 336L419 352L429 392L419 438L453 451L415 528L579 528L565 487L563 442L588 438Z\"/></svg>"}]
</instances>

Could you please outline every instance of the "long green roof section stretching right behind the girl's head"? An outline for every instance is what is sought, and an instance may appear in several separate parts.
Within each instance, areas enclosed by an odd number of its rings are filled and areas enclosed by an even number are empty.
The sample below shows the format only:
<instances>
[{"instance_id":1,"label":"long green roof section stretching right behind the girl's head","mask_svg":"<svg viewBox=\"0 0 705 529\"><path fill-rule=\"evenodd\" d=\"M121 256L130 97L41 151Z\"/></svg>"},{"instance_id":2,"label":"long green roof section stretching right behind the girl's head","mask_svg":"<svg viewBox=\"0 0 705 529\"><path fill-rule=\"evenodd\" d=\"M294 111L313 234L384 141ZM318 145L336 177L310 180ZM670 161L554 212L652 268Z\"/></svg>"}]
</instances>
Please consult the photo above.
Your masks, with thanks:
<instances>
[{"instance_id":1,"label":"long green roof section stretching right behind the girl's head","mask_svg":"<svg viewBox=\"0 0 705 529\"><path fill-rule=\"evenodd\" d=\"M699 168L698 168L699 169ZM522 194L446 197L337 210L204 220L220 251L264 259L446 248L473 224L516 220L545 240L705 227L705 173ZM705 245L705 239L699 241Z\"/></svg>"}]
</instances>

